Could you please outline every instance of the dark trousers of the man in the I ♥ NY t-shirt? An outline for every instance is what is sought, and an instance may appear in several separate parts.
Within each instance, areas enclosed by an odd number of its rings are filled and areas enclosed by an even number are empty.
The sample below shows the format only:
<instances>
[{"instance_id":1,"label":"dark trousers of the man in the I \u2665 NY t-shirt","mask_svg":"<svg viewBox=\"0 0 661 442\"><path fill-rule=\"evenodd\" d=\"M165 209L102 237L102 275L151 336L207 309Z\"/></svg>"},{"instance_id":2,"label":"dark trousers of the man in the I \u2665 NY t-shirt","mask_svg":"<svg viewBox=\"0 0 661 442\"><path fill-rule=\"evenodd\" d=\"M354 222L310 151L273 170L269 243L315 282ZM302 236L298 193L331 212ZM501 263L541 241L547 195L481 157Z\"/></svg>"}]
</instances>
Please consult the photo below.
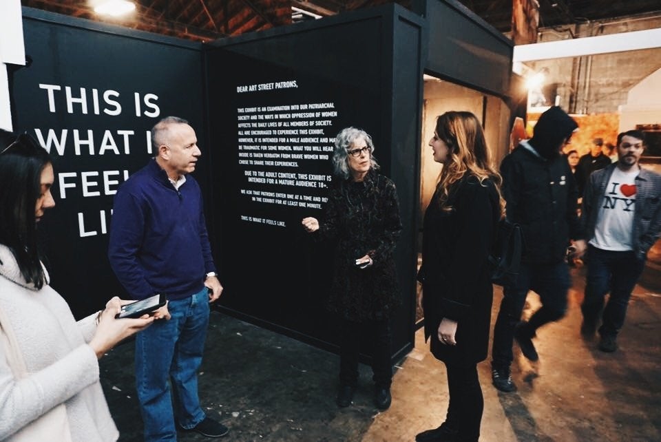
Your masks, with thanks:
<instances>
[{"instance_id":1,"label":"dark trousers of the man in the I \u2665 NY t-shirt","mask_svg":"<svg viewBox=\"0 0 661 442\"><path fill-rule=\"evenodd\" d=\"M602 314L599 334L615 336L625 324L631 291L644 269L633 251L608 251L589 246L587 249L587 281L585 298L580 310L583 320L597 324ZM610 292L604 309L606 293Z\"/></svg>"}]
</instances>

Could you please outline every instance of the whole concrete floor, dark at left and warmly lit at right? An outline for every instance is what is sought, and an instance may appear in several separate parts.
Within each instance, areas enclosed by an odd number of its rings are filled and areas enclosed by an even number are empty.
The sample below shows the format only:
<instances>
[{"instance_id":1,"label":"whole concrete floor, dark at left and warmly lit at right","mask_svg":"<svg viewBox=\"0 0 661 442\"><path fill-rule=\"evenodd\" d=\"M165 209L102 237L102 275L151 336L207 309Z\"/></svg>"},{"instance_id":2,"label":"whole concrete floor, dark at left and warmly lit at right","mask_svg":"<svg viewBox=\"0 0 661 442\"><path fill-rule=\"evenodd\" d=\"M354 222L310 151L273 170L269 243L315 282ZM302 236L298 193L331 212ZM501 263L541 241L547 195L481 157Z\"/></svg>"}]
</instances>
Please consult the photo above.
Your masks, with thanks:
<instances>
[{"instance_id":1,"label":"whole concrete floor, dark at left and warmly lit at right","mask_svg":"<svg viewBox=\"0 0 661 442\"><path fill-rule=\"evenodd\" d=\"M485 399L481 441L661 441L658 287L636 286L620 349L607 354L578 333L583 273L573 271L567 316L538 331L540 361L529 363L515 346L517 392L498 392L488 360L479 365ZM494 295L495 317L500 288ZM536 295L529 295L526 314L537 305ZM101 370L120 440L140 441L133 344L112 350L101 359ZM208 414L229 426L222 439L227 441L413 441L444 419L445 366L430 355L421 330L415 350L397 364L386 412L372 405L366 366L353 406L338 409L336 372L336 355L214 312L200 397ZM179 439L209 440L183 432Z\"/></svg>"}]
</instances>

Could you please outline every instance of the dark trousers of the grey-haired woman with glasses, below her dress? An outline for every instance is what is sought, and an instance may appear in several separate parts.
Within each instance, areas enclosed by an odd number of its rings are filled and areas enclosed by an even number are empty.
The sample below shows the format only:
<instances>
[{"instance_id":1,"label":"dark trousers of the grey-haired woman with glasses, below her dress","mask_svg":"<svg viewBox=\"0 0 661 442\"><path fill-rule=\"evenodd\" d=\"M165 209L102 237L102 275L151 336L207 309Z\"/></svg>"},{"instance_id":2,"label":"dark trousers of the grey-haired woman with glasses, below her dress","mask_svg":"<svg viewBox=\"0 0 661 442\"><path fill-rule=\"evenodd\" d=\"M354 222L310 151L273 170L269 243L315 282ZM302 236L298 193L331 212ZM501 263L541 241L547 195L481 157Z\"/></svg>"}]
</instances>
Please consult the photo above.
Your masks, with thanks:
<instances>
[{"instance_id":1,"label":"dark trousers of the grey-haired woman with glasses, below her dress","mask_svg":"<svg viewBox=\"0 0 661 442\"><path fill-rule=\"evenodd\" d=\"M353 322L342 319L339 342L339 382L357 386L358 356L361 340L372 344L373 380L379 387L390 388L392 364L390 363L390 324L388 319ZM364 339L366 338L366 339Z\"/></svg>"}]
</instances>

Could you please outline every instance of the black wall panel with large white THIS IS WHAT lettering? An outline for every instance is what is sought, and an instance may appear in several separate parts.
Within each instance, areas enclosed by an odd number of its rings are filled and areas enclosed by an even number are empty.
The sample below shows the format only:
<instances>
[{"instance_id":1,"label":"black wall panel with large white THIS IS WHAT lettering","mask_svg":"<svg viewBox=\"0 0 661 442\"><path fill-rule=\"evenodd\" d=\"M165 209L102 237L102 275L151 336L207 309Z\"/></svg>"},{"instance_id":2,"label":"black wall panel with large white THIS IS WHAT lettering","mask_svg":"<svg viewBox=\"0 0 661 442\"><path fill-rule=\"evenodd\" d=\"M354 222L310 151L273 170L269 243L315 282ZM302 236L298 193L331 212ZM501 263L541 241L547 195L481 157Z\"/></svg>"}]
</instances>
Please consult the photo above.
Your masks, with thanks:
<instances>
[{"instance_id":1,"label":"black wall panel with large white THIS IS WHAT lettering","mask_svg":"<svg viewBox=\"0 0 661 442\"><path fill-rule=\"evenodd\" d=\"M181 116L196 129L195 176L211 201L201 45L30 8L23 30L32 63L12 78L14 129L54 158L56 206L40 231L52 286L81 317L127 297L107 260L112 201L153 156L158 119Z\"/></svg>"}]
</instances>

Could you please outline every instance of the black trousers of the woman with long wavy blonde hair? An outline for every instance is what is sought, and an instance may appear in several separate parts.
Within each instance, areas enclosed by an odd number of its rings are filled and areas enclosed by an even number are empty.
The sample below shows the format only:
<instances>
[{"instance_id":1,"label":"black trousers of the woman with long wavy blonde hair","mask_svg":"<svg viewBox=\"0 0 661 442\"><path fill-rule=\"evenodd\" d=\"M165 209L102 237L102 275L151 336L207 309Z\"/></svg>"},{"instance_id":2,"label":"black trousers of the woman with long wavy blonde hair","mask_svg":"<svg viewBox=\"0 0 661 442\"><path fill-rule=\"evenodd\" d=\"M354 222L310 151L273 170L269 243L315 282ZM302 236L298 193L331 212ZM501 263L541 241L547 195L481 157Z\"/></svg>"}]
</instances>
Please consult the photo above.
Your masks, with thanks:
<instances>
[{"instance_id":1,"label":"black trousers of the woman with long wavy blonde hair","mask_svg":"<svg viewBox=\"0 0 661 442\"><path fill-rule=\"evenodd\" d=\"M445 425L459 431L459 441L477 441L484 409L482 388L477 375L477 366L453 366L448 369L450 404Z\"/></svg>"}]
</instances>

